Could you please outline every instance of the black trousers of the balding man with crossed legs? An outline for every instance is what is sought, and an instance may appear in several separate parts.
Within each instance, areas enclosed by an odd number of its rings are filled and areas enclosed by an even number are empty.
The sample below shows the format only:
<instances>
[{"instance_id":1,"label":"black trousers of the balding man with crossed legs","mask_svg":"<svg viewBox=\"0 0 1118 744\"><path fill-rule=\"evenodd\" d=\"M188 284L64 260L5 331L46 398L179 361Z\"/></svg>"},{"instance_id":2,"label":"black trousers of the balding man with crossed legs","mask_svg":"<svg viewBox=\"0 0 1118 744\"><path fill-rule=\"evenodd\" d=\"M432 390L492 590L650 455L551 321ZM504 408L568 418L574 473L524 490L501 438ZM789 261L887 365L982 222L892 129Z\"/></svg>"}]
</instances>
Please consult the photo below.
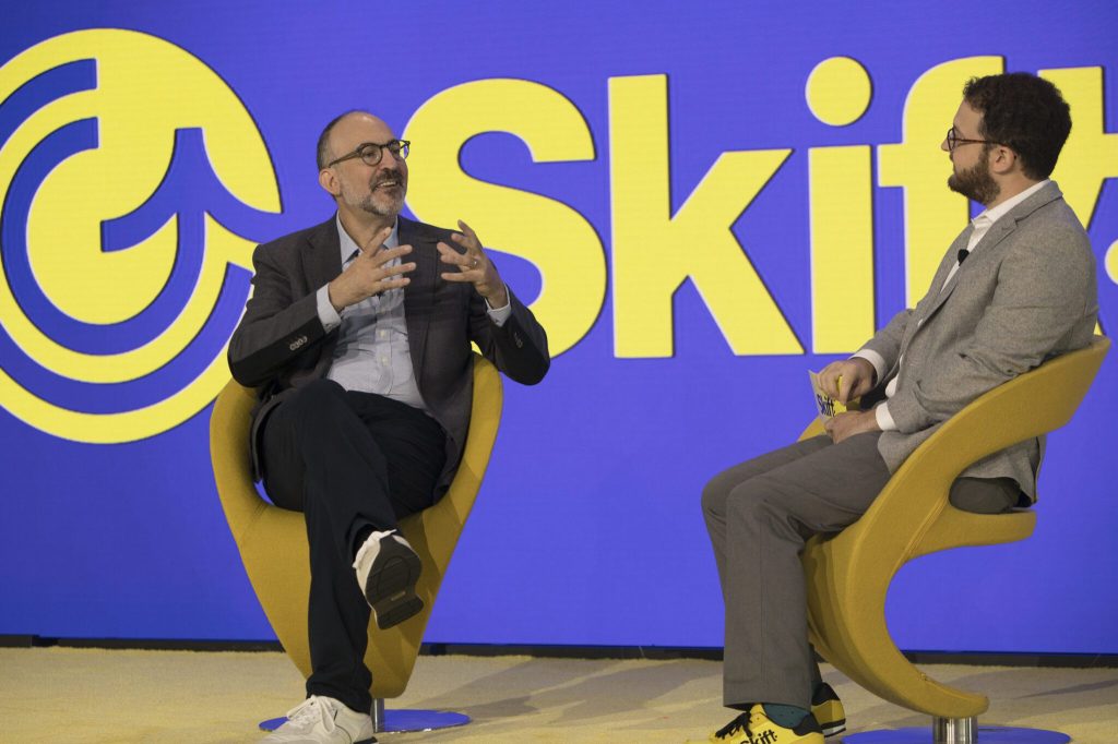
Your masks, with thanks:
<instances>
[{"instance_id":1,"label":"black trousers of the balding man with crossed legs","mask_svg":"<svg viewBox=\"0 0 1118 744\"><path fill-rule=\"evenodd\" d=\"M265 421L264 487L276 506L306 517L313 669L307 695L369 710L370 610L352 565L358 536L370 527L392 530L398 518L434 503L445 438L423 411L331 380L300 388Z\"/></svg>"}]
</instances>

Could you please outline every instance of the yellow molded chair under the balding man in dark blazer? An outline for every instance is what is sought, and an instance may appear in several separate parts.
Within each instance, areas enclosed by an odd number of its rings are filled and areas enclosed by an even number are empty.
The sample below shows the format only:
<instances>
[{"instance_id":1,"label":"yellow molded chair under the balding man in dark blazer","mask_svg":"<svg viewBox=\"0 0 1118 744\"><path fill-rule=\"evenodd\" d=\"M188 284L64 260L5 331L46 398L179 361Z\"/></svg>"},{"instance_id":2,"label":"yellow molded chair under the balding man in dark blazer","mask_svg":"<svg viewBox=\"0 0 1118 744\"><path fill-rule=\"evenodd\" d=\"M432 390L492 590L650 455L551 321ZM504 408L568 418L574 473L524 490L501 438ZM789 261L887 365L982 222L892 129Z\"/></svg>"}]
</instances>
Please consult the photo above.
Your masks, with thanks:
<instances>
[{"instance_id":1,"label":"yellow molded chair under the balding man in dark blazer","mask_svg":"<svg viewBox=\"0 0 1118 744\"><path fill-rule=\"evenodd\" d=\"M264 613L287 656L309 677L306 616L311 571L306 527L301 513L273 506L253 486L248 425L255 400L255 392L236 381L230 381L218 395L210 417L214 478ZM386 718L383 699L401 695L411 677L435 595L489 465L502 401L500 374L489 361L475 354L470 432L454 483L437 504L400 522L400 531L423 560L416 593L424 601L424 610L388 630L380 630L375 620L369 623L364 662L372 671L370 693L377 732L426 729L470 721L454 713L405 710L390 710Z\"/></svg>"}]
</instances>

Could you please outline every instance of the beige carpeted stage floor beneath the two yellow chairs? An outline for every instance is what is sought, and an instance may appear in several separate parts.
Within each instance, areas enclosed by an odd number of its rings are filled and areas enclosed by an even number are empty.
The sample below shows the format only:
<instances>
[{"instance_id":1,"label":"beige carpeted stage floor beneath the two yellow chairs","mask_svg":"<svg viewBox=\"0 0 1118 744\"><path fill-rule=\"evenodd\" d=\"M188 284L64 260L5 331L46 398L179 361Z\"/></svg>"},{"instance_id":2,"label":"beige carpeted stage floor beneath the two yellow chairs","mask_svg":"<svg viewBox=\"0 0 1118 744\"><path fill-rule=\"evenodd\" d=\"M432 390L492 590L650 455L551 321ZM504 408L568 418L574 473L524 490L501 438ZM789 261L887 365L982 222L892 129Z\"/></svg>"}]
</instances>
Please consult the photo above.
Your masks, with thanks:
<instances>
[{"instance_id":1,"label":"beige carpeted stage floor beneath the two yellow chairs","mask_svg":"<svg viewBox=\"0 0 1118 744\"><path fill-rule=\"evenodd\" d=\"M680 743L732 717L721 665L698 660L421 657L395 707L466 713L468 726L381 742ZM932 666L930 676L993 698L984 724L1058 728L1118 743L1118 669ZM833 669L850 732L923 725ZM302 698L281 654L0 649L0 742L255 742L255 723ZM835 742L836 740L828 740Z\"/></svg>"}]
</instances>

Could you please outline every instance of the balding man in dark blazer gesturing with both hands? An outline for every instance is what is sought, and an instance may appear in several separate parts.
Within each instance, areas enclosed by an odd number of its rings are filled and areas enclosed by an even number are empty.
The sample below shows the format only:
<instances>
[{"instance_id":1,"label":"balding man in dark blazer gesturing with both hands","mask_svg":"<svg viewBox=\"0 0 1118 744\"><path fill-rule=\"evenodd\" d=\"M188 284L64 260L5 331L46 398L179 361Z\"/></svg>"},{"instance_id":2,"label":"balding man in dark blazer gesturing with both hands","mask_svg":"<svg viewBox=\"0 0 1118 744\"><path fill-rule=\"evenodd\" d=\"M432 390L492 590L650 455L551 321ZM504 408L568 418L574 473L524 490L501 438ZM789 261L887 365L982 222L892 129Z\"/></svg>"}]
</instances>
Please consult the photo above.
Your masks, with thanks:
<instances>
[{"instance_id":1,"label":"balding man in dark blazer gesturing with both hands","mask_svg":"<svg viewBox=\"0 0 1118 744\"><path fill-rule=\"evenodd\" d=\"M337 214L256 249L229 344L234 378L259 391L254 471L277 506L305 514L311 552L307 699L269 742L375 741L370 608L381 628L423 608L397 519L435 503L457 468L471 342L525 384L550 363L543 328L465 222L399 217L407 151L364 112L326 125L319 183Z\"/></svg>"}]
</instances>

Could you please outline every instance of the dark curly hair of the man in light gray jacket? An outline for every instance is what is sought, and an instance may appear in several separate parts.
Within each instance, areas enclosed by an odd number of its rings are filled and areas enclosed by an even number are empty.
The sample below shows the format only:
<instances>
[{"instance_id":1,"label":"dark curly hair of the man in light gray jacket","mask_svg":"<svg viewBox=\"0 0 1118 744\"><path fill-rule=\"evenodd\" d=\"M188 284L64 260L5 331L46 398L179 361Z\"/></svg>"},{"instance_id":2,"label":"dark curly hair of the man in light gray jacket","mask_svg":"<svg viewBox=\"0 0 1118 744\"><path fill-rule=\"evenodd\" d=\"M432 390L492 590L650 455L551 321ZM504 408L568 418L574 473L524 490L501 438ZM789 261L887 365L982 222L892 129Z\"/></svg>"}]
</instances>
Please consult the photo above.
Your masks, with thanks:
<instances>
[{"instance_id":1,"label":"dark curly hair of the man in light gray jacket","mask_svg":"<svg viewBox=\"0 0 1118 744\"><path fill-rule=\"evenodd\" d=\"M1071 132L1071 108L1060 89L1029 73L973 77L963 97L979 112L979 133L1010 147L1024 174L1040 181L1055 168Z\"/></svg>"}]
</instances>

